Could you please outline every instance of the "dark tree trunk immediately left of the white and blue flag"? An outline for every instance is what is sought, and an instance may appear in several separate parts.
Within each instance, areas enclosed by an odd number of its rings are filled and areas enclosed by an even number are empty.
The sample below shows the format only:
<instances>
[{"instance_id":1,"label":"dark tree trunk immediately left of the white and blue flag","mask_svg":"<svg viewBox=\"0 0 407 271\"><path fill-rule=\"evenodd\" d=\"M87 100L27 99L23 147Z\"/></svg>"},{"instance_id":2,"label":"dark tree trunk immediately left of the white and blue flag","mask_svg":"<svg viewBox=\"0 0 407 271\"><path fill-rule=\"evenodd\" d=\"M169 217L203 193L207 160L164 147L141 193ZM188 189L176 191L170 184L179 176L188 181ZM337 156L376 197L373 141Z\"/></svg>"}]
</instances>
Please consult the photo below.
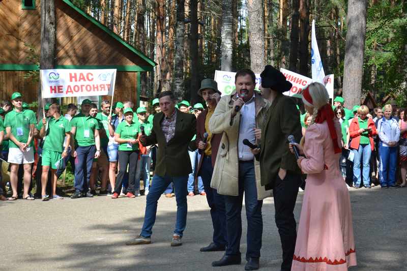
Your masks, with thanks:
<instances>
[{"instance_id":1,"label":"dark tree trunk immediately left of the white and blue flag","mask_svg":"<svg viewBox=\"0 0 407 271\"><path fill-rule=\"evenodd\" d=\"M310 62L309 45L309 0L300 0L300 74L308 76Z\"/></svg>"}]
</instances>

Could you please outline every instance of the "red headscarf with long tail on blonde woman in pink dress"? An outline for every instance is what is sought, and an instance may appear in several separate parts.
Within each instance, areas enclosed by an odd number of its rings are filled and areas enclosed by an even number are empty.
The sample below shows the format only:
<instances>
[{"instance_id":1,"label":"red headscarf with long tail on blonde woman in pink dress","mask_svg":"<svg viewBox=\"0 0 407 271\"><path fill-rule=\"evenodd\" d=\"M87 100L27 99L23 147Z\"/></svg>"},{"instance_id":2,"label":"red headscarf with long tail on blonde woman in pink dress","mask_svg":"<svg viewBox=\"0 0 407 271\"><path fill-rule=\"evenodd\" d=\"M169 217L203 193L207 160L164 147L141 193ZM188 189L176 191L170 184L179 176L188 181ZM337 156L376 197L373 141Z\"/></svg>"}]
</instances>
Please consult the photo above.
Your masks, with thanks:
<instances>
[{"instance_id":1,"label":"red headscarf with long tail on blonde woman in pink dress","mask_svg":"<svg viewBox=\"0 0 407 271\"><path fill-rule=\"evenodd\" d=\"M308 103L313 104L312 97L309 93L308 87L304 89L303 97ZM339 148L339 145L338 145L338 135L336 134L336 130L335 130L334 117L335 117L335 113L332 110L332 107L329 104L326 104L323 107L318 109L318 114L316 115L316 118L314 119L314 123L323 123L323 122L327 121L329 133L331 134L332 143L334 144L334 152L335 152L335 154L338 154L338 153L341 153L342 150Z\"/></svg>"}]
</instances>

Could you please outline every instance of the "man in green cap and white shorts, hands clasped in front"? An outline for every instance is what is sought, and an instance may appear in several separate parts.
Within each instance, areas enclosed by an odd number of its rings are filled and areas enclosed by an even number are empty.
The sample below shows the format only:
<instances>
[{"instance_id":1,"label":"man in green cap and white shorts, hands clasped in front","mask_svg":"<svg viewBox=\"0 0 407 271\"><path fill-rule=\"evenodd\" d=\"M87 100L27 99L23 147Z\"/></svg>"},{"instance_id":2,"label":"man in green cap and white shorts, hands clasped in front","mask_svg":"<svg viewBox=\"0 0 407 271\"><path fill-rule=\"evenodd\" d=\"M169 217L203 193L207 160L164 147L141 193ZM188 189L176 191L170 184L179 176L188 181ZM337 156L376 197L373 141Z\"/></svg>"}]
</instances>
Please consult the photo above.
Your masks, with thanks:
<instances>
[{"instance_id":1,"label":"man in green cap and white shorts, hands clasped in front","mask_svg":"<svg viewBox=\"0 0 407 271\"><path fill-rule=\"evenodd\" d=\"M10 200L17 199L17 172L21 164L24 167L24 191L23 199L34 200L28 194L31 184L31 166L34 163L34 148L30 147L34 139L36 117L30 111L22 108L22 96L15 92L11 96L14 109L6 114L4 126L7 136L10 138L8 162L11 164L10 183L13 196Z\"/></svg>"}]
</instances>

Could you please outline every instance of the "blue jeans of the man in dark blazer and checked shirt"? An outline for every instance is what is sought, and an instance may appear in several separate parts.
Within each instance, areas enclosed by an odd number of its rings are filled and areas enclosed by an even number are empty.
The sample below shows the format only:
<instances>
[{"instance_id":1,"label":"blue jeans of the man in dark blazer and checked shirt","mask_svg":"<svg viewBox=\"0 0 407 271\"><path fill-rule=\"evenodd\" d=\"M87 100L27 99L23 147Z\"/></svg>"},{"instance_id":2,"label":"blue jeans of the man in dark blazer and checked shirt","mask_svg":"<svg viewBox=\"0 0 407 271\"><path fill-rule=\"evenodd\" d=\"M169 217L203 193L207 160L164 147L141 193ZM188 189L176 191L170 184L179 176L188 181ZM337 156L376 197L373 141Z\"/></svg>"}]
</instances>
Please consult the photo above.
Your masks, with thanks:
<instances>
[{"instance_id":1,"label":"blue jeans of the man in dark blazer and checked shirt","mask_svg":"<svg viewBox=\"0 0 407 271\"><path fill-rule=\"evenodd\" d=\"M167 186L174 184L175 196L177 200L177 222L175 224L174 234L182 236L187 224L187 182L188 176L170 177L154 175L150 192L146 200L146 214L144 215L143 228L140 235L150 237L153 233L153 226L157 216L157 202Z\"/></svg>"}]
</instances>

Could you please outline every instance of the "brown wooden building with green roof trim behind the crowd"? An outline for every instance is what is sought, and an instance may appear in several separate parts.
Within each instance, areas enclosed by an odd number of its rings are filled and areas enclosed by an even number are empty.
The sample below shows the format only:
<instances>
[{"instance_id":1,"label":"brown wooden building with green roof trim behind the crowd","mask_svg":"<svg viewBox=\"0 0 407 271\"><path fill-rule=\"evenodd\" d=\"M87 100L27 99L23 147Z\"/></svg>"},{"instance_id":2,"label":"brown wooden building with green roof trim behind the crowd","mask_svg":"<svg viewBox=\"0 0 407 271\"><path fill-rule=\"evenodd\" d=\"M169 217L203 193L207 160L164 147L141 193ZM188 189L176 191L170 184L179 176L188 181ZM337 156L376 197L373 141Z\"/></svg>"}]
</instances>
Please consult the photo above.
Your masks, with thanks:
<instances>
[{"instance_id":1,"label":"brown wooden building with green roof trim behind the crowd","mask_svg":"<svg viewBox=\"0 0 407 271\"><path fill-rule=\"evenodd\" d=\"M40 1L0 0L0 100L19 91L24 101L37 101ZM154 61L69 0L55 0L55 15L55 68L117 69L114 101L138 106L140 73L152 71Z\"/></svg>"}]
</instances>

